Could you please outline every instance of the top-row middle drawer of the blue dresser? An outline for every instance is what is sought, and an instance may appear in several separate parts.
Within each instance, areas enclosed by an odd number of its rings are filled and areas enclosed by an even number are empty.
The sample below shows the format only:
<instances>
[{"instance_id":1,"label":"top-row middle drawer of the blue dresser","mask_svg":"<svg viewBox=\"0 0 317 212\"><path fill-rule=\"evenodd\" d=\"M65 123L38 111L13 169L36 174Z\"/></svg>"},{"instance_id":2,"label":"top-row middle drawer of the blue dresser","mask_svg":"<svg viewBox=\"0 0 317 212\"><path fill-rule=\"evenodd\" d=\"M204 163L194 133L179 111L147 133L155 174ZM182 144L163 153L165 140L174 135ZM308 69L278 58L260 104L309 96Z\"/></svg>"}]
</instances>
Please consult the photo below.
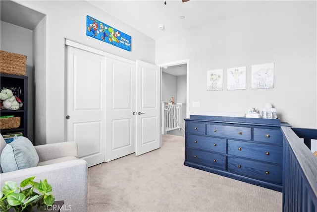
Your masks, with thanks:
<instances>
[{"instance_id":1,"label":"top-row middle drawer of the blue dresser","mask_svg":"<svg viewBox=\"0 0 317 212\"><path fill-rule=\"evenodd\" d=\"M207 135L231 139L251 140L251 128L224 125L207 125Z\"/></svg>"}]
</instances>

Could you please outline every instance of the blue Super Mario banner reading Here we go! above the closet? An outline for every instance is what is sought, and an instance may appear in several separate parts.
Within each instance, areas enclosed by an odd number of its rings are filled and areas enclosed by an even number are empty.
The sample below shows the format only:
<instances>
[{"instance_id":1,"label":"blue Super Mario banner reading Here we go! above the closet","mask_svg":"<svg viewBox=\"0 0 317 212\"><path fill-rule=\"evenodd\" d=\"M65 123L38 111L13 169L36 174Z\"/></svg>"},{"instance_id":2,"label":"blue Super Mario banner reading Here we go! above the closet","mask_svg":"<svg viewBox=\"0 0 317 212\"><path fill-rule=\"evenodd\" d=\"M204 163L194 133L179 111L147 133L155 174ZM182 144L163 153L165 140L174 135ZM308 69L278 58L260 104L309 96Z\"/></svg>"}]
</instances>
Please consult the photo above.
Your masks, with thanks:
<instances>
[{"instance_id":1,"label":"blue Super Mario banner reading Here we go! above the closet","mask_svg":"<svg viewBox=\"0 0 317 212\"><path fill-rule=\"evenodd\" d=\"M131 52L131 36L87 15L86 35Z\"/></svg>"}]
</instances>

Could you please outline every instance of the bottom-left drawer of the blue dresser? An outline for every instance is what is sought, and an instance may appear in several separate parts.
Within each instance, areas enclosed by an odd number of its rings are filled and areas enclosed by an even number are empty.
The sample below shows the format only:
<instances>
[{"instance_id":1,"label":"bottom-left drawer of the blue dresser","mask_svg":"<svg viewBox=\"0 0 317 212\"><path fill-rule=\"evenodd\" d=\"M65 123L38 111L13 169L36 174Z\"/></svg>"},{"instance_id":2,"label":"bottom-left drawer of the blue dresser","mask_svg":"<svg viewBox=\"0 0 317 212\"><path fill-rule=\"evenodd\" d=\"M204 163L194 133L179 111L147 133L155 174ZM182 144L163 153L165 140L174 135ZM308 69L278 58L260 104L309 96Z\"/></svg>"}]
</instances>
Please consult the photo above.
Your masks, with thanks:
<instances>
[{"instance_id":1,"label":"bottom-left drawer of the blue dresser","mask_svg":"<svg viewBox=\"0 0 317 212\"><path fill-rule=\"evenodd\" d=\"M200 151L192 148L187 148L186 153L186 159L188 162L225 170L225 155Z\"/></svg>"}]
</instances>

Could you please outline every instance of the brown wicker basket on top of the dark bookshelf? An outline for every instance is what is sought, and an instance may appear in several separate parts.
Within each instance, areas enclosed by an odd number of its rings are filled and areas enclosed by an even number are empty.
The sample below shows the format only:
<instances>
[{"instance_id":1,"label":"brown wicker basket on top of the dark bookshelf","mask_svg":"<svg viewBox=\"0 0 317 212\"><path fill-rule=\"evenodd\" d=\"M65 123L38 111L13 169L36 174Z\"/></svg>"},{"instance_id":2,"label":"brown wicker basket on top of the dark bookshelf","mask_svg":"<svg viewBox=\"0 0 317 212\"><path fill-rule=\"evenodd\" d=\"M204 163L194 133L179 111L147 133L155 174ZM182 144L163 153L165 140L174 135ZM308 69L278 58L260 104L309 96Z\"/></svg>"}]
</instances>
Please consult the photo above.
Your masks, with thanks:
<instances>
[{"instance_id":1,"label":"brown wicker basket on top of the dark bookshelf","mask_svg":"<svg viewBox=\"0 0 317 212\"><path fill-rule=\"evenodd\" d=\"M0 51L0 72L13 74L13 75L25 75L26 71L26 56L11 52Z\"/></svg>"}]
</instances>

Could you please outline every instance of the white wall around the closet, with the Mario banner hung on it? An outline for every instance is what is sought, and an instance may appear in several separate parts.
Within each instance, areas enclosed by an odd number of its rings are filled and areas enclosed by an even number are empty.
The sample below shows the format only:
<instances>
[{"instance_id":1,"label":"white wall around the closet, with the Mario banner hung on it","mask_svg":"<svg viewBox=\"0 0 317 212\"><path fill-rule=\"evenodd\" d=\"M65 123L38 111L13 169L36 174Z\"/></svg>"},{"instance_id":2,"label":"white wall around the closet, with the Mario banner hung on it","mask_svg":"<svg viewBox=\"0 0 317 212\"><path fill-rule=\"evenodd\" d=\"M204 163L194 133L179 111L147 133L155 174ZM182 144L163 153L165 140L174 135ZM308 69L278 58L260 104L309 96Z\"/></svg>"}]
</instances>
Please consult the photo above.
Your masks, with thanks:
<instances>
[{"instance_id":1,"label":"white wall around the closet, with the Mario banner hung on it","mask_svg":"<svg viewBox=\"0 0 317 212\"><path fill-rule=\"evenodd\" d=\"M130 60L155 63L155 41L131 26L108 15L87 1L16 1L26 7L46 14L45 67L46 105L36 106L36 115L46 120L46 141L64 141L65 122L65 38ZM111 3L109 1L108 3ZM86 15L90 15L132 37L131 52L112 46L86 35ZM38 29L40 30L40 29ZM43 29L41 29L42 31ZM40 39L38 37L38 39ZM41 42L37 40L37 42ZM42 50L43 51L43 50ZM37 58L35 58L37 60ZM41 62L39 62L41 63ZM87 72L89 74L89 72ZM41 86L37 88L41 89ZM41 98L42 99L42 98ZM43 137L43 136L42 136Z\"/></svg>"}]
</instances>

